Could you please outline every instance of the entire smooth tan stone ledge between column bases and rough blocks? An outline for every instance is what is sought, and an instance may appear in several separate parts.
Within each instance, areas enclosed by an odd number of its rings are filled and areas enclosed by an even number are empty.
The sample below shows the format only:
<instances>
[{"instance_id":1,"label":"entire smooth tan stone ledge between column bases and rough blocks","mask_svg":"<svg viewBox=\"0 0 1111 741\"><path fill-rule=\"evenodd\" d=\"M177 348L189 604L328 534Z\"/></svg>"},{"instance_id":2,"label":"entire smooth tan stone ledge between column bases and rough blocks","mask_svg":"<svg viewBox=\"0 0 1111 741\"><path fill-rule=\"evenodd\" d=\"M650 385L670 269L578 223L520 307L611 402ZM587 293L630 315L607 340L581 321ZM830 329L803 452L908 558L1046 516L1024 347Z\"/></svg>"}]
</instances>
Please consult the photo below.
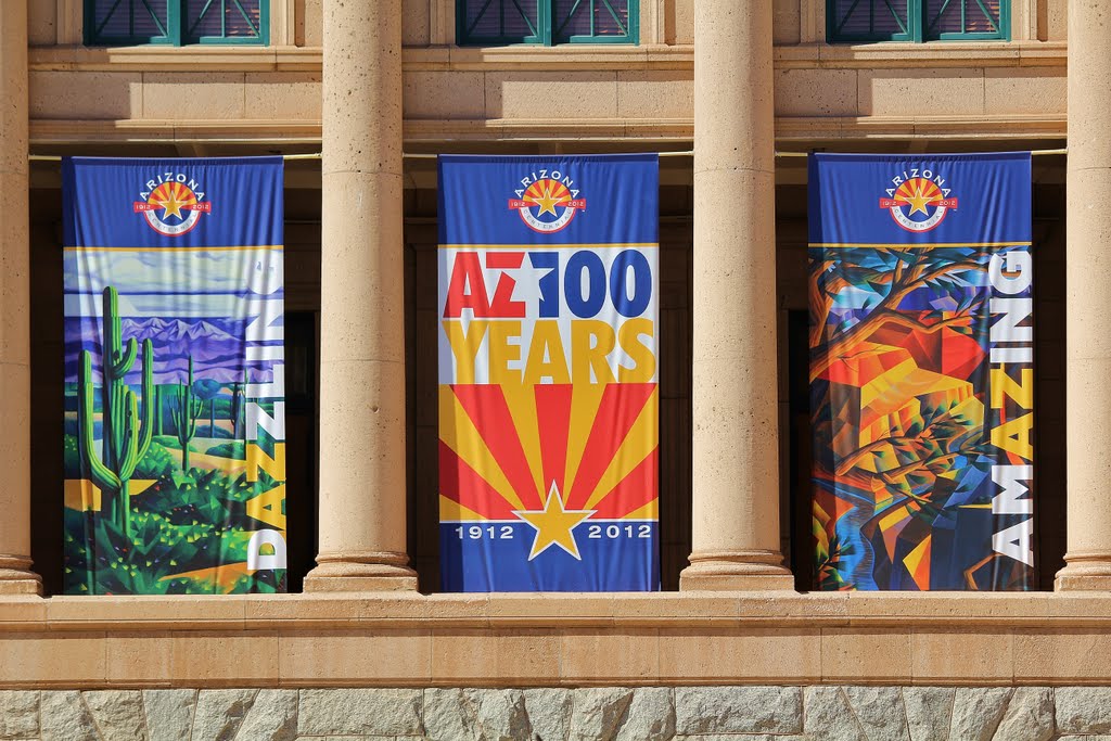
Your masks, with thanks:
<instances>
[{"instance_id":1,"label":"entire smooth tan stone ledge between column bases and rough blocks","mask_svg":"<svg viewBox=\"0 0 1111 741\"><path fill-rule=\"evenodd\" d=\"M3 687L1099 684L1105 594L7 598Z\"/></svg>"}]
</instances>

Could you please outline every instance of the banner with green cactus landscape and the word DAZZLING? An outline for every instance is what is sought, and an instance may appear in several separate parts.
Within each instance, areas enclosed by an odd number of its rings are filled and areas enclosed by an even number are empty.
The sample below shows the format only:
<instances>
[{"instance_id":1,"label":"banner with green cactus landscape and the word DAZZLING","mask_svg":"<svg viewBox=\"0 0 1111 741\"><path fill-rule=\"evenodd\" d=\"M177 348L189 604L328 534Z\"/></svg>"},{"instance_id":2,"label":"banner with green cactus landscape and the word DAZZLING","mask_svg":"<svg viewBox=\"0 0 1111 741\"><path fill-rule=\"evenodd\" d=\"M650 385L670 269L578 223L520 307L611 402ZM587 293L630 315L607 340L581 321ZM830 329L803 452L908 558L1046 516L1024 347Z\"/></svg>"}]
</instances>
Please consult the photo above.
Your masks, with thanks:
<instances>
[{"instance_id":1,"label":"banner with green cactus landscape and the word DAZZLING","mask_svg":"<svg viewBox=\"0 0 1111 741\"><path fill-rule=\"evenodd\" d=\"M67 594L281 592L281 158L62 164Z\"/></svg>"}]
</instances>

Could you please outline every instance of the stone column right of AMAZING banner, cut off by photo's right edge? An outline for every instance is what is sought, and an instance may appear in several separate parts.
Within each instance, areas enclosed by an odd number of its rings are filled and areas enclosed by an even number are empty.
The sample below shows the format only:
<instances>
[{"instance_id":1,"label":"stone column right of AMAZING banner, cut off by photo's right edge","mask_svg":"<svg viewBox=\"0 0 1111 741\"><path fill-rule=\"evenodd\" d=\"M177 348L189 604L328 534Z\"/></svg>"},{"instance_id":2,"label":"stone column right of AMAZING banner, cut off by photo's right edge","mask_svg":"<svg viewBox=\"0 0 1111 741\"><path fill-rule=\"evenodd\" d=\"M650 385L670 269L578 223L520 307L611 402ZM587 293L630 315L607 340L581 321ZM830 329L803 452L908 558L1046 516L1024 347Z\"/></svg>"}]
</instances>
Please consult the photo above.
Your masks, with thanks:
<instances>
[{"instance_id":1,"label":"stone column right of AMAZING banner, cut off by photo's right edge","mask_svg":"<svg viewBox=\"0 0 1111 741\"><path fill-rule=\"evenodd\" d=\"M1069 169L1065 252L1068 552L1057 589L1111 589L1111 14L1069 1ZM1052 434L1052 432L1051 432Z\"/></svg>"}]
</instances>

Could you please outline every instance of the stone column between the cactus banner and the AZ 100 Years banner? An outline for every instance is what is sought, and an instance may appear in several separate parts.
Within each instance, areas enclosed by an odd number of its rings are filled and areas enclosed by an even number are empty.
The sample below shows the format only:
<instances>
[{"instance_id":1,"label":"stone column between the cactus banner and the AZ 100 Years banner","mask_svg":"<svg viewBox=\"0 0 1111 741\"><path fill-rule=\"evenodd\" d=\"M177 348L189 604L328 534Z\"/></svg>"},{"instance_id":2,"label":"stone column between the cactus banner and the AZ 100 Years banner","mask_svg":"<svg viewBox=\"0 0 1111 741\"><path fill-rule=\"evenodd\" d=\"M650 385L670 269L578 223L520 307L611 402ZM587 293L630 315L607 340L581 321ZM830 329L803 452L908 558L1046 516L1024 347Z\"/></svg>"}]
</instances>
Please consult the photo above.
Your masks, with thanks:
<instances>
[{"instance_id":1,"label":"stone column between the cactus banner and the AZ 100 Years banner","mask_svg":"<svg viewBox=\"0 0 1111 741\"><path fill-rule=\"evenodd\" d=\"M304 589L411 590L401 0L323 12L320 553Z\"/></svg>"}]
</instances>

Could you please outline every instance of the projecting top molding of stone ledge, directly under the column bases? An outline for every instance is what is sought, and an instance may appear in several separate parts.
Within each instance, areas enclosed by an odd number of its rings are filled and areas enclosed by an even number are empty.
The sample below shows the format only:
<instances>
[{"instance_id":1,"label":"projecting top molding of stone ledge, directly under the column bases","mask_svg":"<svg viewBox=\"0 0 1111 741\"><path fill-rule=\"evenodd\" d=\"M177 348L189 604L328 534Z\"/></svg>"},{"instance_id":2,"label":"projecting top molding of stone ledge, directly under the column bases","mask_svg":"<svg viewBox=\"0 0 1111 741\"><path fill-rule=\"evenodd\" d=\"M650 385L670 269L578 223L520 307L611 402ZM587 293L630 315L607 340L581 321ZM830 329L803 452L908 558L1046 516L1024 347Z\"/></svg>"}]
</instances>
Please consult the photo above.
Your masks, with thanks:
<instances>
[{"instance_id":1,"label":"projecting top molding of stone ledge, directly under the column bases","mask_svg":"<svg viewBox=\"0 0 1111 741\"><path fill-rule=\"evenodd\" d=\"M1111 627L1102 592L304 593L0 595L0 632L448 628L854 628L1065 630Z\"/></svg>"}]
</instances>

